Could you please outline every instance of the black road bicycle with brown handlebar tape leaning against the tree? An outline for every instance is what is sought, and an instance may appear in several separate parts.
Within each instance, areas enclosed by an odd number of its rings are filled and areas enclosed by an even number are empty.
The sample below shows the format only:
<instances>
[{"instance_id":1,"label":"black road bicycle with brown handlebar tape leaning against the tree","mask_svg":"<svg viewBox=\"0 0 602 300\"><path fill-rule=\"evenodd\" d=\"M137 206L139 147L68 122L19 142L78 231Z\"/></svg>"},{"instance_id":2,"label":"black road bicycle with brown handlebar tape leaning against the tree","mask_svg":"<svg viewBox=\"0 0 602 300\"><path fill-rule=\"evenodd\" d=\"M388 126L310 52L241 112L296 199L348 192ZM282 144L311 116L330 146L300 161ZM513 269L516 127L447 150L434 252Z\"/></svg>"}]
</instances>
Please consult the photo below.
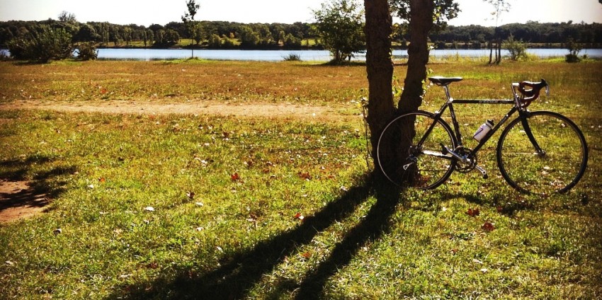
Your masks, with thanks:
<instances>
[{"instance_id":1,"label":"black road bicycle with brown handlebar tape leaning against the tree","mask_svg":"<svg viewBox=\"0 0 602 300\"><path fill-rule=\"evenodd\" d=\"M434 113L416 110L395 117L378 140L378 164L395 185L433 189L445 183L453 171L477 170L487 179L487 171L477 164L477 152L515 113L518 117L504 128L496 146L497 166L512 188L527 194L567 192L584 175L588 148L579 127L560 113L527 109L543 88L549 95L545 80L512 83L513 99L508 100L453 99L450 83L462 81L462 77L434 76L428 80L445 90L443 106ZM481 125L474 136L478 144L469 149L462 142L455 103L513 106L498 124L488 120ZM448 108L453 128L442 118Z\"/></svg>"}]
</instances>

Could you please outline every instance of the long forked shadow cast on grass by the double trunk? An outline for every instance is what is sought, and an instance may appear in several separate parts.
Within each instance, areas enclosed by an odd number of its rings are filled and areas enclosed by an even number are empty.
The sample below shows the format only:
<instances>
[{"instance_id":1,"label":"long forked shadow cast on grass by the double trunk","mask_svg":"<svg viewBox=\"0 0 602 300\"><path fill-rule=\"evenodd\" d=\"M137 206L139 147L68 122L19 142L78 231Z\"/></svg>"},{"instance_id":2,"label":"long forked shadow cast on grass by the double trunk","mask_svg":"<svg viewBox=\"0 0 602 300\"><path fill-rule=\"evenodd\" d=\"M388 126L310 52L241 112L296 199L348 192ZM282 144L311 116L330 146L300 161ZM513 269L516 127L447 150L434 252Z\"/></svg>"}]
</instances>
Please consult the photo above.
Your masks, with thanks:
<instances>
[{"instance_id":1,"label":"long forked shadow cast on grass by the double trunk","mask_svg":"<svg viewBox=\"0 0 602 300\"><path fill-rule=\"evenodd\" d=\"M375 186L373 183L375 180L370 175L363 183L350 188L312 217L305 218L295 229L261 241L250 250L224 258L214 270L194 275L190 267L183 268L178 270L175 277L164 274L152 282L138 282L116 291L109 299L244 299L249 289L264 275L269 275L286 257L294 255L300 246L309 244L321 231L349 217L358 205L374 195L377 202L362 221L348 231L343 241L334 247L329 258L316 270L308 272L301 284L288 281L275 287L277 292L285 294L296 291L297 299L319 299L330 277L348 265L366 243L389 230L389 219L398 203L399 190L390 186ZM278 298L281 294L273 296Z\"/></svg>"}]
</instances>

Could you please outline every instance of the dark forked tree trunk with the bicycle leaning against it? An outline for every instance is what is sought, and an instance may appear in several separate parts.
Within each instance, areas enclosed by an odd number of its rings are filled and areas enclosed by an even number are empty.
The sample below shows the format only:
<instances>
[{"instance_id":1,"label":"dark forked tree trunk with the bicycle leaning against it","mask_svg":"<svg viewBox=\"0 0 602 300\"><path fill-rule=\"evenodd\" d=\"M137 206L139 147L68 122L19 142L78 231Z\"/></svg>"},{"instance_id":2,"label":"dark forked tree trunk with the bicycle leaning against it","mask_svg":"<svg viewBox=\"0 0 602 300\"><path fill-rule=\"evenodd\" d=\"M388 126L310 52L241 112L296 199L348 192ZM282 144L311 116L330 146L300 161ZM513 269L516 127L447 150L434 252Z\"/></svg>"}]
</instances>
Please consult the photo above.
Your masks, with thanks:
<instances>
[{"instance_id":1,"label":"dark forked tree trunk with the bicycle leaning against it","mask_svg":"<svg viewBox=\"0 0 602 300\"><path fill-rule=\"evenodd\" d=\"M366 37L366 71L368 73L368 126L370 127L370 144L373 146L372 156L377 161L378 139L382 129L394 115L411 110L417 110L422 103L423 82L426 79L426 64L428 63L428 32L433 27L433 1L410 1L410 45L408 48L408 71L404 81L404 92L399 100L397 110L392 99L391 35L392 19L387 0L364 0L365 6L365 37ZM399 130L397 137L408 137L404 132L414 132L413 123ZM395 166L401 166L408 153L409 140L395 138L381 143L380 154L385 160ZM400 170L402 168L399 168ZM417 173L409 169L407 172ZM410 176L409 181L412 178ZM394 192L387 185L387 179L375 170L377 190ZM385 189L383 189L385 188Z\"/></svg>"}]
</instances>

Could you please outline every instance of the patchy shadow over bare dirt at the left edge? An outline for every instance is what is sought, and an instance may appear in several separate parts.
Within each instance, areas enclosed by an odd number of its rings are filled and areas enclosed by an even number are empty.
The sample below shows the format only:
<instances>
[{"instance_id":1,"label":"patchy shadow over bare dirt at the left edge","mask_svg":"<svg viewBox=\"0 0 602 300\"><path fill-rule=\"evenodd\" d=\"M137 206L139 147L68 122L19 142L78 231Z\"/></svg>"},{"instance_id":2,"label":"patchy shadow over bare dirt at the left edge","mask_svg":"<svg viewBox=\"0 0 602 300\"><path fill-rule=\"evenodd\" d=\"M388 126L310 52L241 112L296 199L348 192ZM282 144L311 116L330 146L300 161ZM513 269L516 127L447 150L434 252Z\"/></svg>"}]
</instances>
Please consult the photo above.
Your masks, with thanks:
<instances>
[{"instance_id":1,"label":"patchy shadow over bare dirt at the left edge","mask_svg":"<svg viewBox=\"0 0 602 300\"><path fill-rule=\"evenodd\" d=\"M0 161L0 214L7 209L40 209L64 192L64 181L56 177L76 172L75 166L57 166L48 171L35 171L34 166L52 163L48 156L29 156L23 160ZM28 180L28 174L35 173Z\"/></svg>"}]
</instances>

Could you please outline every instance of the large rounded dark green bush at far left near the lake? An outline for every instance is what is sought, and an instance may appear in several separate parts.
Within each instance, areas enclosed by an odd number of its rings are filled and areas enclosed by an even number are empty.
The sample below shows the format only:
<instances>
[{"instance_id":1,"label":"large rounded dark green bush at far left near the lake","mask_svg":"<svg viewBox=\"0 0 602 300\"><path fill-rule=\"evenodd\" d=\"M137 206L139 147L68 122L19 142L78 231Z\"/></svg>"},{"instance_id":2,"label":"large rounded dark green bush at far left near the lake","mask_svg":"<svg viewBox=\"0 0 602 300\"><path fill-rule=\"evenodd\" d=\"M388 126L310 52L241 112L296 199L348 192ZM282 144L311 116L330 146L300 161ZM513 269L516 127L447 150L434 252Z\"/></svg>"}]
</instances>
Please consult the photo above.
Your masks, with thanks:
<instances>
[{"instance_id":1,"label":"large rounded dark green bush at far left near the lake","mask_svg":"<svg viewBox=\"0 0 602 300\"><path fill-rule=\"evenodd\" d=\"M39 25L8 42L8 51L14 59L48 62L73 56L71 34L62 28Z\"/></svg>"}]
</instances>

